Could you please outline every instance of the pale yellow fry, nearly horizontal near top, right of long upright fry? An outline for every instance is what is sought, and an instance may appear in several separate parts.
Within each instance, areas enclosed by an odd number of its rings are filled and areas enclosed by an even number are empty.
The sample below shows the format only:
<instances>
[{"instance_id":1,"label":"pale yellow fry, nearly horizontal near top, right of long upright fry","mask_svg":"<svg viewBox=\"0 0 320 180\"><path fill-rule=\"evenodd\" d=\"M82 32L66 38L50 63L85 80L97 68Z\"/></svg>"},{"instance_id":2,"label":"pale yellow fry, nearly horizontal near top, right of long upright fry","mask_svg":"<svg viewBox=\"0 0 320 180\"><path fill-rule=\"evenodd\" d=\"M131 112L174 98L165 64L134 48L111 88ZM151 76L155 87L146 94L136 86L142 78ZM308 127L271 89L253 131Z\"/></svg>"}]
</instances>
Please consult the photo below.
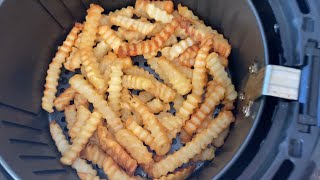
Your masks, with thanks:
<instances>
[{"instance_id":1,"label":"pale yellow fry, nearly horizontal near top, right of long upright fry","mask_svg":"<svg viewBox=\"0 0 320 180\"><path fill-rule=\"evenodd\" d=\"M150 22L144 22L139 19L131 19L121 15L110 17L110 21L117 26L124 27L128 30L134 30L144 35L149 34L155 27L155 25Z\"/></svg>"}]
</instances>

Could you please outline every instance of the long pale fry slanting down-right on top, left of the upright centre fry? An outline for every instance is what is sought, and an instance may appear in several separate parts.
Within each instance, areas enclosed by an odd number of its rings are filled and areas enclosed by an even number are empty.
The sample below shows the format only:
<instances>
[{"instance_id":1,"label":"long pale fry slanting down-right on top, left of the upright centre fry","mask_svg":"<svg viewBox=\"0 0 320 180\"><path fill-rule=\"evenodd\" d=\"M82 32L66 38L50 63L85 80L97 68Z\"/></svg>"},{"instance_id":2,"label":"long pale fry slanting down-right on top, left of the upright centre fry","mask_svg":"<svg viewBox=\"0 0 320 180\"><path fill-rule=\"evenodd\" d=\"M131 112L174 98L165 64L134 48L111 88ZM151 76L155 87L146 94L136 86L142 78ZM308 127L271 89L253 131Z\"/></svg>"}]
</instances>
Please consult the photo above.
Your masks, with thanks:
<instances>
[{"instance_id":1,"label":"long pale fry slanting down-right on top, left of the upright centre fry","mask_svg":"<svg viewBox=\"0 0 320 180\"><path fill-rule=\"evenodd\" d=\"M107 123L113 132L123 128L121 119L108 106L108 103L104 97L97 93L95 89L85 79L83 79L83 76L74 75L72 78L70 78L69 83L72 88L87 98L88 101L93 104L95 109L102 114L103 118L107 120Z\"/></svg>"}]
</instances>

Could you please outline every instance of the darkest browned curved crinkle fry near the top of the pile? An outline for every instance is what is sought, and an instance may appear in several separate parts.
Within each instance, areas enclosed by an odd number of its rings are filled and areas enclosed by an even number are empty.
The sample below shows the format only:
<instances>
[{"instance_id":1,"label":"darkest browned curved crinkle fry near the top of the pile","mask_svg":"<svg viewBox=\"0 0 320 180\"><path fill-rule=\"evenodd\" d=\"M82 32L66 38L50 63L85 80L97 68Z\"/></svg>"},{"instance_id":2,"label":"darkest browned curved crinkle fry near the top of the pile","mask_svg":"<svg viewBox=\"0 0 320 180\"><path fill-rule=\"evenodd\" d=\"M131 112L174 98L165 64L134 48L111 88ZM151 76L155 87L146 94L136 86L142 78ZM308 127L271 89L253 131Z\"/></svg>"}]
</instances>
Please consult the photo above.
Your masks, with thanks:
<instances>
[{"instance_id":1,"label":"darkest browned curved crinkle fry near the top of the pile","mask_svg":"<svg viewBox=\"0 0 320 180\"><path fill-rule=\"evenodd\" d=\"M165 26L160 33L156 34L151 40L142 41L138 44L123 44L119 47L118 54L120 57L137 56L149 54L158 50L166 40L174 33L179 25L179 20L174 18L170 24Z\"/></svg>"}]
</instances>

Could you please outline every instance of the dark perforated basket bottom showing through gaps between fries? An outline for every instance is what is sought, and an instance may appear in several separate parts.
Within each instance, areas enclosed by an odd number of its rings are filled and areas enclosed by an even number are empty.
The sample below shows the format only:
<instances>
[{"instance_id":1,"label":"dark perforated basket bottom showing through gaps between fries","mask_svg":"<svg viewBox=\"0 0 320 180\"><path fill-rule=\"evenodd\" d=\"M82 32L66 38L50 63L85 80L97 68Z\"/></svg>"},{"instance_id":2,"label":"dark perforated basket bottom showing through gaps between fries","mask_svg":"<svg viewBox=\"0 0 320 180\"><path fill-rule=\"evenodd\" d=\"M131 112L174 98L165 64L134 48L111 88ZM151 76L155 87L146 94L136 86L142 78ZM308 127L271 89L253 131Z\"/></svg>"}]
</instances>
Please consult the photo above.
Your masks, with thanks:
<instances>
[{"instance_id":1,"label":"dark perforated basket bottom showing through gaps between fries","mask_svg":"<svg viewBox=\"0 0 320 180\"><path fill-rule=\"evenodd\" d=\"M139 66L141 68L146 69L147 71L149 71L151 74L153 74L156 79L160 80L159 76L154 72L153 69L151 69L149 67L149 65L147 64L146 60L142 57L142 56L137 56L137 57L133 57L133 64L136 66ZM69 78L71 78L74 74L79 74L80 71L77 70L75 73L74 72L70 72L68 70L66 70L65 68L62 69L61 71L61 75L60 75L60 79L59 79L59 86L58 86L58 95L61 94L65 89L67 89L70 85L68 83ZM139 91L137 90L133 90L132 94L138 94ZM175 109L172 107L171 104L171 109L170 112L175 114ZM219 112L219 109L216 109L215 113L213 113L214 115L217 114ZM65 134L65 136L67 137L67 139L70 141L70 137L68 136L68 128L67 128L67 124L65 121L65 116L64 116L64 112L59 112L57 110L55 110L53 113L49 114L49 121L52 120L56 120L56 122L61 126L61 128L63 129L63 132ZM180 149L180 147L182 146L180 139L176 138L173 139L172 141L172 146L171 149L169 151L169 154L173 153L174 151ZM206 162L197 162L195 163L196 168L194 171L198 171L200 170L201 167L203 167L206 164ZM105 173L103 172L102 169L98 168L98 166L93 165L93 167L98 171L98 174L101 178L107 178L107 176L105 175ZM140 175L142 177L147 177L147 174L139 167L136 170L136 175Z\"/></svg>"}]
</instances>

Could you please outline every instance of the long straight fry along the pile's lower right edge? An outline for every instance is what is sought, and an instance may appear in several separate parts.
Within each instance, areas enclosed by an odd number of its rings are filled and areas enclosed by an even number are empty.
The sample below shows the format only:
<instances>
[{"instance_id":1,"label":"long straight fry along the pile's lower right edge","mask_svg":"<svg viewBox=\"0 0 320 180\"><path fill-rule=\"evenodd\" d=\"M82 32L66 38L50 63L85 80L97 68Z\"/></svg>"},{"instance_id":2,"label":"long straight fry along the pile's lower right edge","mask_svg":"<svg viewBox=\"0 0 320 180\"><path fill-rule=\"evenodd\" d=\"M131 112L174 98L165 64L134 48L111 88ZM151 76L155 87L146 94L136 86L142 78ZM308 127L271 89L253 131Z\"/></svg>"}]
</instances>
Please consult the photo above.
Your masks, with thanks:
<instances>
[{"instance_id":1,"label":"long straight fry along the pile's lower right edge","mask_svg":"<svg viewBox=\"0 0 320 180\"><path fill-rule=\"evenodd\" d=\"M152 168L153 177L159 178L187 163L191 158L199 154L201 150L205 149L233 121L234 117L230 111L221 112L214 121L210 122L208 128L197 134L191 142L155 163Z\"/></svg>"}]
</instances>

